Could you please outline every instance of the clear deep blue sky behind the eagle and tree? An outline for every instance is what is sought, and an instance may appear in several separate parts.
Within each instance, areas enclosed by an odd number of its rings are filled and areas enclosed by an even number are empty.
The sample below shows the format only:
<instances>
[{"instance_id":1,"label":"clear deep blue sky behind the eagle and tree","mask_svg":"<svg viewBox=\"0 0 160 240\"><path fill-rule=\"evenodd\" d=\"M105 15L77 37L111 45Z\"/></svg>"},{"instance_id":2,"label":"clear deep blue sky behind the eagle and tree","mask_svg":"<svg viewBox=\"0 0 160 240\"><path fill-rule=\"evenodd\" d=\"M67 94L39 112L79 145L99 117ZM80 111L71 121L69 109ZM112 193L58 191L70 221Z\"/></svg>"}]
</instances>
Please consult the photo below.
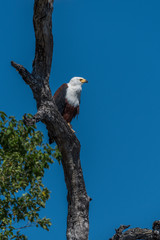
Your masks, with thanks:
<instances>
[{"instance_id":1,"label":"clear deep blue sky behind the eagle and tree","mask_svg":"<svg viewBox=\"0 0 160 240\"><path fill-rule=\"evenodd\" d=\"M151 227L160 219L160 1L55 0L52 92L73 76L84 85L73 121L90 204L91 240L106 240L120 224ZM33 0L1 2L0 110L20 119L36 112L31 90L10 66L31 70ZM42 124L38 128L47 132ZM51 198L42 215L49 232L29 240L64 240L67 191L62 166L46 173Z\"/></svg>"}]
</instances>

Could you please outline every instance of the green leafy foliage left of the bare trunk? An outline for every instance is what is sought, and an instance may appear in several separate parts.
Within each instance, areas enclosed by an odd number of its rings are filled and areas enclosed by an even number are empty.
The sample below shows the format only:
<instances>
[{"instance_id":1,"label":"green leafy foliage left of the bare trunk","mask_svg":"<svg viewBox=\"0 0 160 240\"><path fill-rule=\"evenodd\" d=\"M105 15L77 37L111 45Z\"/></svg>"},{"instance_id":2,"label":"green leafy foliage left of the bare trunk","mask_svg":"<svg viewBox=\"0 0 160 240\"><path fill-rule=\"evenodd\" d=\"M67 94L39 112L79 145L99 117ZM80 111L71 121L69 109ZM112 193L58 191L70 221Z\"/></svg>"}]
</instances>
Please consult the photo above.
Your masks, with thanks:
<instances>
[{"instance_id":1,"label":"green leafy foliage left of the bare trunk","mask_svg":"<svg viewBox=\"0 0 160 240\"><path fill-rule=\"evenodd\" d=\"M32 225L49 230L39 212L50 196L42 178L52 157L35 126L0 112L0 239L27 239L20 230Z\"/></svg>"}]
</instances>

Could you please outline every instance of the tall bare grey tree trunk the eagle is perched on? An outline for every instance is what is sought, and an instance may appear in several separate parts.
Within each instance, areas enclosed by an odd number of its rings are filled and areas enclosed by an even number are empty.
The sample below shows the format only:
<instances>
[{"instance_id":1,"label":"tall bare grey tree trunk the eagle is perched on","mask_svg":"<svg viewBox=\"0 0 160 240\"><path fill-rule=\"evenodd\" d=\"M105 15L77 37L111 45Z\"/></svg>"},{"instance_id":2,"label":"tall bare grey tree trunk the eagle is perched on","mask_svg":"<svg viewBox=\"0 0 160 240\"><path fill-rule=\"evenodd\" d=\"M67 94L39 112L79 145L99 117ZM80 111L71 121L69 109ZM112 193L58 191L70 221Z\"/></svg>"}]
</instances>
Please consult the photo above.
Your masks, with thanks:
<instances>
[{"instance_id":1,"label":"tall bare grey tree trunk the eagle is perched on","mask_svg":"<svg viewBox=\"0 0 160 240\"><path fill-rule=\"evenodd\" d=\"M80 163L80 142L62 118L55 105L49 76L52 64L52 11L54 0L34 1L34 31L36 38L32 73L22 65L11 62L23 80L30 86L37 103L32 119L26 124L42 121L48 130L49 142L55 141L62 153L62 165L68 189L67 239L87 240L89 232L89 201Z\"/></svg>"}]
</instances>

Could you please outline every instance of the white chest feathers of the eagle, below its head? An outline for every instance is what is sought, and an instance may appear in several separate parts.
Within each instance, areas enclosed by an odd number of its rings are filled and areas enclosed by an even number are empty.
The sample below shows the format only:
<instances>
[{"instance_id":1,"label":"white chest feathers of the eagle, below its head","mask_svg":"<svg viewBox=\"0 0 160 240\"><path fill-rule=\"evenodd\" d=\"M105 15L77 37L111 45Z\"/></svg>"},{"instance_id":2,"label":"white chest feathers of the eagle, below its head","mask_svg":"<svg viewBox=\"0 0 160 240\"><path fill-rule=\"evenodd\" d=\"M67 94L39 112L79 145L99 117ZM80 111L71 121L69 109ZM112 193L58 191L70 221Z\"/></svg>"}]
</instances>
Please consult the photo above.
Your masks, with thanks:
<instances>
[{"instance_id":1,"label":"white chest feathers of the eagle, below its head","mask_svg":"<svg viewBox=\"0 0 160 240\"><path fill-rule=\"evenodd\" d=\"M67 92L66 92L66 99L69 104L74 107L79 106L80 104L80 97L81 97L81 86L79 87L71 87L68 84Z\"/></svg>"}]
</instances>

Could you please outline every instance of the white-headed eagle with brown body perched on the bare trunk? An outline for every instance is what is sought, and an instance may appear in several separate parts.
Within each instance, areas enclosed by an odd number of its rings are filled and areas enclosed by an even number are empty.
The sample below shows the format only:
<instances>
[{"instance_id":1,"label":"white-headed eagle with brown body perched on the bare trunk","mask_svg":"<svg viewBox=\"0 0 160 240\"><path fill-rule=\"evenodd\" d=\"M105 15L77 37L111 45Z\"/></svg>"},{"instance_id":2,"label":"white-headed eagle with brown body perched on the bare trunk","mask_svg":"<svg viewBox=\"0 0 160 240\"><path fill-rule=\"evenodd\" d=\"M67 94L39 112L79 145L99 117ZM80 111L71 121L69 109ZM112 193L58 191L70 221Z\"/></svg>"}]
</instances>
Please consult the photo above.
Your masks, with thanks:
<instances>
[{"instance_id":1,"label":"white-headed eagle with brown body perched on the bare trunk","mask_svg":"<svg viewBox=\"0 0 160 240\"><path fill-rule=\"evenodd\" d=\"M70 127L72 119L79 114L82 85L87 82L82 77L73 77L69 83L62 84L53 96L59 112Z\"/></svg>"}]
</instances>

